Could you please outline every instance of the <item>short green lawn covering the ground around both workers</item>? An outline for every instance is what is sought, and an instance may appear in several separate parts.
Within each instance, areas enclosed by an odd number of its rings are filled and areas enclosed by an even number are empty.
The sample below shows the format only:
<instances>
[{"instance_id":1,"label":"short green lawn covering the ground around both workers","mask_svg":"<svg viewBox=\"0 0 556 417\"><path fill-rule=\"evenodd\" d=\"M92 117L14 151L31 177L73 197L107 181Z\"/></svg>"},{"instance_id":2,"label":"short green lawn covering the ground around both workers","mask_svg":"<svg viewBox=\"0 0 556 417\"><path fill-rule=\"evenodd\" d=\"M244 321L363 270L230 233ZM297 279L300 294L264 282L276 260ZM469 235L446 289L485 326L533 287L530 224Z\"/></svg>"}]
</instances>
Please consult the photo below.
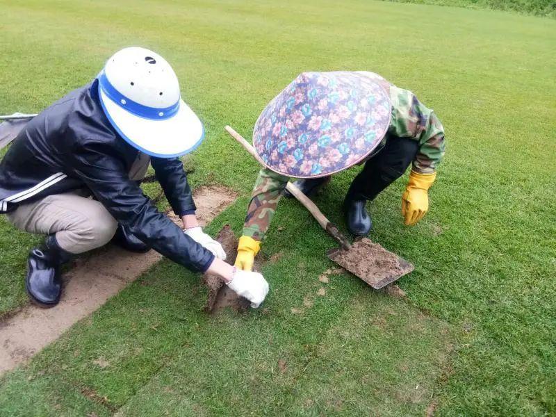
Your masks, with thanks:
<instances>
[{"instance_id":1,"label":"short green lawn covering the ground around both workers","mask_svg":"<svg viewBox=\"0 0 556 417\"><path fill-rule=\"evenodd\" d=\"M556 411L556 23L374 1L3 2L0 112L40 111L140 44L174 65L207 137L193 186L242 197L209 227L236 233L256 163L247 138L305 70L371 70L443 121L431 211L404 227L406 177L369 205L373 240L416 265L407 300L318 276L334 247L281 202L261 256L271 292L245 316L202 313L199 277L163 261L26 368L0 379L0 415L549 415ZM357 168L316 202L338 209ZM149 194L156 194L150 186ZM0 218L0 310L25 302L37 238ZM277 255L279 254L279 255ZM325 296L317 295L325 288ZM293 309L293 310L292 310Z\"/></svg>"}]
</instances>

